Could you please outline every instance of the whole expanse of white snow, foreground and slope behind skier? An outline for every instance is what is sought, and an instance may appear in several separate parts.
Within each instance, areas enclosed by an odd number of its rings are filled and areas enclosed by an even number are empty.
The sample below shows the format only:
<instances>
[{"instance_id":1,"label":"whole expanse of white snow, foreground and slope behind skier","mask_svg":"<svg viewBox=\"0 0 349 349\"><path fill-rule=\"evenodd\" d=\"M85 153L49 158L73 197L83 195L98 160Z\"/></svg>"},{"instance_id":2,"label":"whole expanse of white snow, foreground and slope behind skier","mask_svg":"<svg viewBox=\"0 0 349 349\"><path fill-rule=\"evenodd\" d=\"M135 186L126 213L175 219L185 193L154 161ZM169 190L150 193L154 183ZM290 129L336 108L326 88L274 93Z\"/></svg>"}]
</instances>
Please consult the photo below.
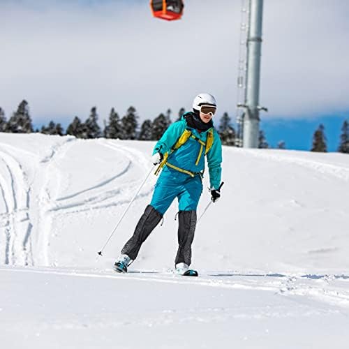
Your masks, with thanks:
<instances>
[{"instance_id":1,"label":"whole expanse of white snow, foreground and slope behind skier","mask_svg":"<svg viewBox=\"0 0 349 349\"><path fill-rule=\"evenodd\" d=\"M200 276L170 273L177 202L115 274L155 176L97 251L153 146L0 133L1 348L348 348L349 156L225 147L222 198L195 232Z\"/></svg>"}]
</instances>

